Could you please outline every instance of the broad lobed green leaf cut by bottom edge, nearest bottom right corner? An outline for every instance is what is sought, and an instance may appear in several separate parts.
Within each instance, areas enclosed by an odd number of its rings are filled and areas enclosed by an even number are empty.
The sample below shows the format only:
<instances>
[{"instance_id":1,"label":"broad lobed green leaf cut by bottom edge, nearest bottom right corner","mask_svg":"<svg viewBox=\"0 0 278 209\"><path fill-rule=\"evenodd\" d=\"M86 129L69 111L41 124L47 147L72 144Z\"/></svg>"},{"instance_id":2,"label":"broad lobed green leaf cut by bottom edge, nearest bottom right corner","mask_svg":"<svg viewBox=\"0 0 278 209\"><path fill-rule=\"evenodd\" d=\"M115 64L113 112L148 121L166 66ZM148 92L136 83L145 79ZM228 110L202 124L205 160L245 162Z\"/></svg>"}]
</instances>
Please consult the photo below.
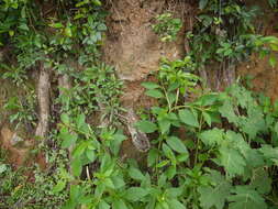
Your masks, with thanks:
<instances>
[{"instance_id":1,"label":"broad lobed green leaf cut by bottom edge, nearest bottom right corner","mask_svg":"<svg viewBox=\"0 0 278 209\"><path fill-rule=\"evenodd\" d=\"M227 199L229 209L267 209L265 199L249 186L236 186Z\"/></svg>"}]
</instances>

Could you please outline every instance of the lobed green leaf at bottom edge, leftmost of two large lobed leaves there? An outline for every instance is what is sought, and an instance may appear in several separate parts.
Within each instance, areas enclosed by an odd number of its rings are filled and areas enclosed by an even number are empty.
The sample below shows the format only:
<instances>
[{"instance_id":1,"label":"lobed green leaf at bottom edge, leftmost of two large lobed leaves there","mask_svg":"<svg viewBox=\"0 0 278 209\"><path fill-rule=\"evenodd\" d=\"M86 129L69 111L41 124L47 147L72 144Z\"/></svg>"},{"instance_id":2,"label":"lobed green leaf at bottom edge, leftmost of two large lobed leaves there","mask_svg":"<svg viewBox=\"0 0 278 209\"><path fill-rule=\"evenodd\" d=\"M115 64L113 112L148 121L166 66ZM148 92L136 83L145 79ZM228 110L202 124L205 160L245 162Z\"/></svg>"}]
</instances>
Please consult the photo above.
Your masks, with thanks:
<instances>
[{"instance_id":1,"label":"lobed green leaf at bottom edge, leftmost of two large lobed leaves there","mask_svg":"<svg viewBox=\"0 0 278 209\"><path fill-rule=\"evenodd\" d=\"M207 176L211 180L212 186L200 186L198 188L201 207L203 209L210 209L213 206L216 209L224 208L226 197L232 189L231 183L216 170L211 170L210 175Z\"/></svg>"}]
</instances>

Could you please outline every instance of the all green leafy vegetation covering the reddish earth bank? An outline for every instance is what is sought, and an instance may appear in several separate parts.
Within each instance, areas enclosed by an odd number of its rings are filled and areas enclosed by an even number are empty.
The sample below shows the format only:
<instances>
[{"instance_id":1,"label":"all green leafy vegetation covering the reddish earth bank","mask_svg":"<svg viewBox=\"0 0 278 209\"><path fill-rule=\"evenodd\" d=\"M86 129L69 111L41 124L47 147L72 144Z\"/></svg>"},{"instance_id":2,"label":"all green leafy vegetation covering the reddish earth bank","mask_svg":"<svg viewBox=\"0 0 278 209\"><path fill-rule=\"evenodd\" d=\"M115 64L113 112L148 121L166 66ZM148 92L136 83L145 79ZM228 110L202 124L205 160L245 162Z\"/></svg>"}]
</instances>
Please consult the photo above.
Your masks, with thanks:
<instances>
[{"instance_id":1,"label":"all green leafy vegetation covering the reddish earth bank","mask_svg":"<svg viewBox=\"0 0 278 209\"><path fill-rule=\"evenodd\" d=\"M142 165L120 156L127 140L123 84L101 62L104 2L45 2L0 3L0 44L12 48L0 57L1 77L23 92L4 105L15 129L34 130L38 120L30 72L44 65L54 82L65 75L73 80L52 89L49 130L34 151L45 153L46 170L13 169L1 150L1 209L278 208L278 102L251 91L243 78L222 92L197 88L205 86L198 69L210 63L224 67L258 53L276 65L278 38L259 35L253 21L259 8L240 0L199 1L198 22L187 34L190 52L177 61L162 57L157 81L142 82L145 95L157 100L135 124L152 143ZM274 10L276 3L269 0ZM152 29L173 42L181 24L167 12ZM98 113L103 124L90 121ZM25 175L30 170L33 179Z\"/></svg>"}]
</instances>

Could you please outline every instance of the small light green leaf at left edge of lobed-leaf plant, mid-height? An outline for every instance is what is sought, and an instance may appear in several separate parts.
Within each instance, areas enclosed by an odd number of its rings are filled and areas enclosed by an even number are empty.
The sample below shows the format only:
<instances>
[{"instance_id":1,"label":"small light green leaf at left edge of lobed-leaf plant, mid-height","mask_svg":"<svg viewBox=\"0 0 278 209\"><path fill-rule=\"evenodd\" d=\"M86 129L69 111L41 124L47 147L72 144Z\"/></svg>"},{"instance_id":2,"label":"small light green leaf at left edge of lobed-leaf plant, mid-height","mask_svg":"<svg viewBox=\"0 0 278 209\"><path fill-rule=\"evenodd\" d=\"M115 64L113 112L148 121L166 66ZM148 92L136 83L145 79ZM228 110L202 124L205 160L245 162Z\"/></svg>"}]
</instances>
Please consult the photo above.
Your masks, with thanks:
<instances>
[{"instance_id":1,"label":"small light green leaf at left edge of lobed-leaf plant, mid-height","mask_svg":"<svg viewBox=\"0 0 278 209\"><path fill-rule=\"evenodd\" d=\"M223 136L224 136L224 131L216 128L212 130L203 131L199 135L200 140L210 147L220 145L223 141Z\"/></svg>"}]
</instances>

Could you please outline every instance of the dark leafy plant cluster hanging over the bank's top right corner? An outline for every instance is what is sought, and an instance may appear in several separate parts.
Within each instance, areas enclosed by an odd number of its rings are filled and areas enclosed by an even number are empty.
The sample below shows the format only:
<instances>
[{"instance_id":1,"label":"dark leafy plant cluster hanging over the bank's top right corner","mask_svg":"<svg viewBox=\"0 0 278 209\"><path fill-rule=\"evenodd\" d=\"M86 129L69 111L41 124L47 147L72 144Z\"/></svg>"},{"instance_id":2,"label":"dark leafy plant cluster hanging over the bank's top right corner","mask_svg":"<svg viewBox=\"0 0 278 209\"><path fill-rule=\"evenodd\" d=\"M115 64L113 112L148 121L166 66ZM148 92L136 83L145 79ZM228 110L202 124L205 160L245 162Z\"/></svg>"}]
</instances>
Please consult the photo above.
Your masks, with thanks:
<instances>
[{"instance_id":1,"label":"dark leafy plant cluster hanging over the bank's top right corner","mask_svg":"<svg viewBox=\"0 0 278 209\"><path fill-rule=\"evenodd\" d=\"M199 8L198 23L187 38L191 55L200 66L213 62L236 64L246 61L252 53L268 55L269 64L275 66L271 52L277 51L278 40L256 34L254 19L262 14L258 7L246 7L234 0L200 0Z\"/></svg>"}]
</instances>

